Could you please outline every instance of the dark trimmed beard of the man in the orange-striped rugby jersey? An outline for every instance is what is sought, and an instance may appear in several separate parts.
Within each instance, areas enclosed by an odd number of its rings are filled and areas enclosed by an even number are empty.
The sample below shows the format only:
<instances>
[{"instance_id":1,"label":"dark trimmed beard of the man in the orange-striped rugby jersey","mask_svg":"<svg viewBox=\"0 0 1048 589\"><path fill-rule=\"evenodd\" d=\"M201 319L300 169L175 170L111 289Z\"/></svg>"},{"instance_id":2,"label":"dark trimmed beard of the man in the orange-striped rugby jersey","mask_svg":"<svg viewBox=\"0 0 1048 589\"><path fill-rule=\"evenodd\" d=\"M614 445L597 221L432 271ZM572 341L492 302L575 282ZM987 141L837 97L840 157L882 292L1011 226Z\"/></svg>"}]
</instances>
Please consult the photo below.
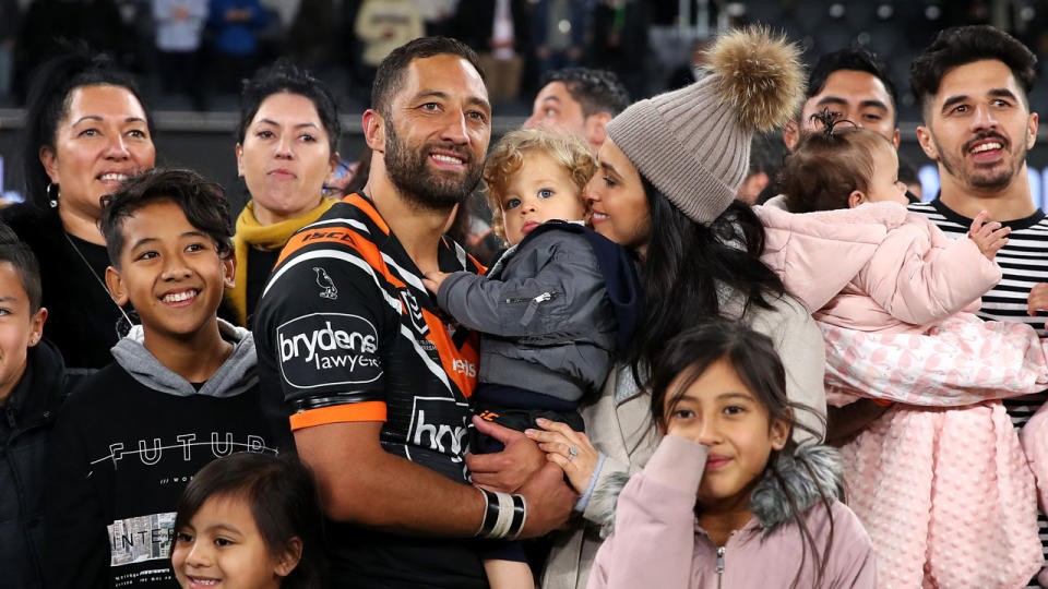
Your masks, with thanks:
<instances>
[{"instance_id":1,"label":"dark trimmed beard of the man in the orange-striped rugby jersey","mask_svg":"<svg viewBox=\"0 0 1048 589\"><path fill-rule=\"evenodd\" d=\"M466 158L463 177L431 170L428 165L427 144L417 151L402 142L389 119L385 121L385 170L393 185L416 205L432 211L448 211L465 202L480 182L484 161L474 161L473 156L455 147L444 147Z\"/></svg>"}]
</instances>

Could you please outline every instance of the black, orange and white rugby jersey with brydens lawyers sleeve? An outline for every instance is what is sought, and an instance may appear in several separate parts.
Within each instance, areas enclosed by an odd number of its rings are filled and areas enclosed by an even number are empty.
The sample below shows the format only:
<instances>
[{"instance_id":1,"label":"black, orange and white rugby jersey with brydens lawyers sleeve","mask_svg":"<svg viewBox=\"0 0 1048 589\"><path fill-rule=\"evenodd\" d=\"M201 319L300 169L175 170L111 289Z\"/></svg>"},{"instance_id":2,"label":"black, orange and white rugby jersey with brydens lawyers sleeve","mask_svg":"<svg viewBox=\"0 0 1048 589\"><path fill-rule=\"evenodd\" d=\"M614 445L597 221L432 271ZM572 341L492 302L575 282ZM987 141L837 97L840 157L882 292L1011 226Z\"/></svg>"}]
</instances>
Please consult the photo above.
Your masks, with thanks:
<instances>
[{"instance_id":1,"label":"black, orange and white rugby jersey with brydens lawyers sleeve","mask_svg":"<svg viewBox=\"0 0 1048 589\"><path fill-rule=\"evenodd\" d=\"M483 272L448 239L439 265ZM281 253L254 316L259 369L291 430L382 421L386 452L466 483L477 335L440 312L421 277L374 206L346 196ZM468 541L329 526L335 586L486 586Z\"/></svg>"}]
</instances>

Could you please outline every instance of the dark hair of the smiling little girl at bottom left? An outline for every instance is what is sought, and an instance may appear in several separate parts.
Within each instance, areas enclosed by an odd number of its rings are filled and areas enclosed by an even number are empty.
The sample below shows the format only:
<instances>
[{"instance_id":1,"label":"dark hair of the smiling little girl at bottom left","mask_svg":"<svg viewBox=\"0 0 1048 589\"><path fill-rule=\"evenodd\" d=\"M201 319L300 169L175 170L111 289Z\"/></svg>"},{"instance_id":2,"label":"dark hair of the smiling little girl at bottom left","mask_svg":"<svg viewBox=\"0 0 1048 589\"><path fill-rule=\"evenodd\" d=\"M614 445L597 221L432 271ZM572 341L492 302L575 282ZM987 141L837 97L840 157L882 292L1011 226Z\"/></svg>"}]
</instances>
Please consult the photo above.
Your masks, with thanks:
<instances>
[{"instance_id":1,"label":"dark hair of the smiling little girl at bottom left","mask_svg":"<svg viewBox=\"0 0 1048 589\"><path fill-rule=\"evenodd\" d=\"M302 541L302 555L284 589L323 587L323 515L312 473L294 454L281 456L239 452L200 469L178 501L175 532L212 497L242 498L251 508L259 533L273 556ZM171 543L174 552L175 543Z\"/></svg>"}]
</instances>

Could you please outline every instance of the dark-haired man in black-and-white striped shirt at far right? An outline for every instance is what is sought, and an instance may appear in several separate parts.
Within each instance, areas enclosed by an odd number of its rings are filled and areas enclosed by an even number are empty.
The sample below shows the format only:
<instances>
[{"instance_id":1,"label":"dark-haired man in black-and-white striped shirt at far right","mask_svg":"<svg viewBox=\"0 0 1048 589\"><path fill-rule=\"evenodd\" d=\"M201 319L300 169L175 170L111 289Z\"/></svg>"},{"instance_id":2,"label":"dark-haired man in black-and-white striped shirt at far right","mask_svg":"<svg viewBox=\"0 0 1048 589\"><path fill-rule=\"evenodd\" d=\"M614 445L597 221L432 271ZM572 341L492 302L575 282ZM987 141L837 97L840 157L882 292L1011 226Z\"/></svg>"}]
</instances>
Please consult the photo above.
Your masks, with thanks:
<instances>
[{"instance_id":1,"label":"dark-haired man in black-and-white striped shirt at far right","mask_svg":"<svg viewBox=\"0 0 1048 589\"><path fill-rule=\"evenodd\" d=\"M939 165L938 197L910 205L946 236L964 238L981 211L1011 232L996 261L1003 278L982 296L978 315L1024 322L1045 337L1048 309L1048 219L1031 197L1026 153L1037 139L1037 113L1028 96L1036 58L1023 44L991 26L942 31L913 64L910 86L924 125L917 139ZM1021 429L1048 394L1005 399ZM1038 515L1041 538L1048 522ZM1043 540L1044 542L1044 540ZM1046 550L1048 554L1048 550Z\"/></svg>"}]
</instances>

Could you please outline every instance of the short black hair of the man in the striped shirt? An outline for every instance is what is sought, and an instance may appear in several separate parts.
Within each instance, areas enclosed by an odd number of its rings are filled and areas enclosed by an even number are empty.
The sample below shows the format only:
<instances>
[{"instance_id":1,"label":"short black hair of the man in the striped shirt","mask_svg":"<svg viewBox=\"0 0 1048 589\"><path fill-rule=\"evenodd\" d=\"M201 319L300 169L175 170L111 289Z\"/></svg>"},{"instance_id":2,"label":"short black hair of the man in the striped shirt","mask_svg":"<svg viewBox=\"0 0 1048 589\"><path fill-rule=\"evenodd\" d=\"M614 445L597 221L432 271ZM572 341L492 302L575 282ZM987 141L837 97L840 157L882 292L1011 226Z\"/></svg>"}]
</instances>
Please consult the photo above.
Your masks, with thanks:
<instances>
[{"instance_id":1,"label":"short black hair of the man in the striped shirt","mask_svg":"<svg viewBox=\"0 0 1048 589\"><path fill-rule=\"evenodd\" d=\"M921 106L925 121L928 107L939 92L946 72L957 65L992 59L1008 65L1023 88L1021 99L1029 108L1029 93L1037 81L1037 57L1015 37L990 25L955 26L939 32L909 69L909 85Z\"/></svg>"}]
</instances>

